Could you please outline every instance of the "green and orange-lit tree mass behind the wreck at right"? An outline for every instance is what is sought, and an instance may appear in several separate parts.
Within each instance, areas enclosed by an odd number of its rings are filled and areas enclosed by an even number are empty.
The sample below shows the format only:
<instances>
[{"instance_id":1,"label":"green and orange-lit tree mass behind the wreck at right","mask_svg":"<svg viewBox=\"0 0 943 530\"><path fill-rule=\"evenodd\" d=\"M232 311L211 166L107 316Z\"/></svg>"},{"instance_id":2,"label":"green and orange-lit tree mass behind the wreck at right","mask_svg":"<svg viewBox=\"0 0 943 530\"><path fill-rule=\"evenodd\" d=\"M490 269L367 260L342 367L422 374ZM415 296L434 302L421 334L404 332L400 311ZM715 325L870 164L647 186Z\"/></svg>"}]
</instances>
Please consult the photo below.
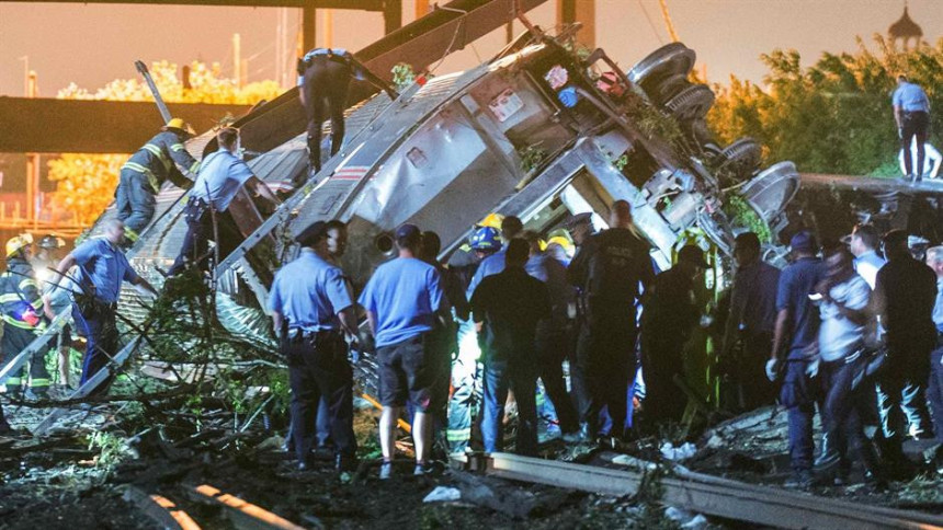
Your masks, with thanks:
<instances>
[{"instance_id":1,"label":"green and orange-lit tree mass behind the wreck at right","mask_svg":"<svg viewBox=\"0 0 943 530\"><path fill-rule=\"evenodd\" d=\"M769 68L765 89L736 77L715 85L708 122L724 142L750 136L766 160L792 160L800 171L895 176L898 140L890 93L898 73L927 91L943 108L943 39L912 50L874 37L877 54L859 38L855 54L822 54L803 67L796 50L761 56ZM931 142L940 140L943 115L932 115Z\"/></svg>"}]
</instances>

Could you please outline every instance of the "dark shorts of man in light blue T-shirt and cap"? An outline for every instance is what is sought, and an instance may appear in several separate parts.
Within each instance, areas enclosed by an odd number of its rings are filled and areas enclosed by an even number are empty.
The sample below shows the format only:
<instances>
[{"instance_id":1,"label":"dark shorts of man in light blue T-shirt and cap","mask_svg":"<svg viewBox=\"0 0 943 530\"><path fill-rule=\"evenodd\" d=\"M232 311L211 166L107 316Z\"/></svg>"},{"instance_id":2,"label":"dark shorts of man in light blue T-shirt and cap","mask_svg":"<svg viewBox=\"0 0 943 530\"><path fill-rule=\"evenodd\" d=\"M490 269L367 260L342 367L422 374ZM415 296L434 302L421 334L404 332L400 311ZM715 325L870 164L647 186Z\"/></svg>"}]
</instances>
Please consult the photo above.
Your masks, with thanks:
<instances>
[{"instance_id":1,"label":"dark shorts of man in light blue T-shirt and cap","mask_svg":"<svg viewBox=\"0 0 943 530\"><path fill-rule=\"evenodd\" d=\"M409 400L417 412L430 408L442 365L435 361L435 355L445 355L434 352L434 343L429 333L421 333L376 349L383 406L401 407Z\"/></svg>"}]
</instances>

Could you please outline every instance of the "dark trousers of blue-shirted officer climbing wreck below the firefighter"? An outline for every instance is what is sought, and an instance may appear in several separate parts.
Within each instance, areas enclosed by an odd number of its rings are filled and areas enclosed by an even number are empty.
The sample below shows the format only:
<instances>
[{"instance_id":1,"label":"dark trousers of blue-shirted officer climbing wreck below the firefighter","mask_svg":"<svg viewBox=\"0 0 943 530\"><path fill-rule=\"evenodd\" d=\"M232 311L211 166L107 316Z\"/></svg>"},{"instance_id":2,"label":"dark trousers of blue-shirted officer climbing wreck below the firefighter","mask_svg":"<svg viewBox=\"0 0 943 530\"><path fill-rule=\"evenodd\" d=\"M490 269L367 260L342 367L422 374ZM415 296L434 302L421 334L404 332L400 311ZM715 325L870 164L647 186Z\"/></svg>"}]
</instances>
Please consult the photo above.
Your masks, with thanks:
<instances>
[{"instance_id":1,"label":"dark trousers of blue-shirted officer climbing wreck below the firefighter","mask_svg":"<svg viewBox=\"0 0 943 530\"><path fill-rule=\"evenodd\" d=\"M170 276L182 273L191 263L195 263L201 270L209 270L209 265L214 261L208 252L208 242L216 240L213 227L214 215L202 201L191 200L186 204L184 216L186 234L183 237L180 254L168 272ZM216 232L219 235L216 244L219 260L223 261L239 246L243 238L228 211L217 211L215 218Z\"/></svg>"}]
</instances>

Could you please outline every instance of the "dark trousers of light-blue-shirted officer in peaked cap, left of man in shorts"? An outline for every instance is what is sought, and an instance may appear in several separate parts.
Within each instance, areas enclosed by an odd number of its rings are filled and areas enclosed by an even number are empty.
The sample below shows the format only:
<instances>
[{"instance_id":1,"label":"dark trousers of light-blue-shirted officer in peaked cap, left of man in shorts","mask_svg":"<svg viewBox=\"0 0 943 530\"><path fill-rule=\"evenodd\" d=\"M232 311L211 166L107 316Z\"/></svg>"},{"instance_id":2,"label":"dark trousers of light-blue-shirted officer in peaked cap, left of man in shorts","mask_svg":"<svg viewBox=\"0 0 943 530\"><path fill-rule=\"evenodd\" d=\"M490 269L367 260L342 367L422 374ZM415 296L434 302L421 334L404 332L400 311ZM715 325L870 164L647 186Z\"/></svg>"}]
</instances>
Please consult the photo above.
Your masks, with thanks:
<instances>
[{"instance_id":1,"label":"dark trousers of light-blue-shirted officer in peaked cap, left of man in shorts","mask_svg":"<svg viewBox=\"0 0 943 530\"><path fill-rule=\"evenodd\" d=\"M337 332L282 341L292 387L292 436L299 462L307 462L316 443L316 416L321 396L328 402L331 438L338 454L356 454L353 433L353 371L346 343Z\"/></svg>"}]
</instances>

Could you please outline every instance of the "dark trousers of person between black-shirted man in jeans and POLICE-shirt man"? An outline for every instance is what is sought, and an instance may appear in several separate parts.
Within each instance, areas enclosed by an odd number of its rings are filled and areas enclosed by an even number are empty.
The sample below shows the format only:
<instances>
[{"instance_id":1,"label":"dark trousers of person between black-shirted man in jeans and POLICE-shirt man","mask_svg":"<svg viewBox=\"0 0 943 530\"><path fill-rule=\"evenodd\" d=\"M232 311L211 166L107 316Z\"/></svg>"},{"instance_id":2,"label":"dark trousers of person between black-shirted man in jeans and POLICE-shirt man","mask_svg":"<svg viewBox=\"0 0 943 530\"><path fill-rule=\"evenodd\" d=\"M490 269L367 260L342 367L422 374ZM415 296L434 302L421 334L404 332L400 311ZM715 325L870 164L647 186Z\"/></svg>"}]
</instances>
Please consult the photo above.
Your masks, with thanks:
<instances>
[{"instance_id":1,"label":"dark trousers of person between black-shirted man in jeans and POLICE-shirt man","mask_svg":"<svg viewBox=\"0 0 943 530\"><path fill-rule=\"evenodd\" d=\"M566 434L579 430L577 410L572 399L567 393L567 383L564 380L563 364L564 359L567 358L568 344L565 324L545 321L537 326L538 376L544 382L544 391L557 413L560 430Z\"/></svg>"}]
</instances>

